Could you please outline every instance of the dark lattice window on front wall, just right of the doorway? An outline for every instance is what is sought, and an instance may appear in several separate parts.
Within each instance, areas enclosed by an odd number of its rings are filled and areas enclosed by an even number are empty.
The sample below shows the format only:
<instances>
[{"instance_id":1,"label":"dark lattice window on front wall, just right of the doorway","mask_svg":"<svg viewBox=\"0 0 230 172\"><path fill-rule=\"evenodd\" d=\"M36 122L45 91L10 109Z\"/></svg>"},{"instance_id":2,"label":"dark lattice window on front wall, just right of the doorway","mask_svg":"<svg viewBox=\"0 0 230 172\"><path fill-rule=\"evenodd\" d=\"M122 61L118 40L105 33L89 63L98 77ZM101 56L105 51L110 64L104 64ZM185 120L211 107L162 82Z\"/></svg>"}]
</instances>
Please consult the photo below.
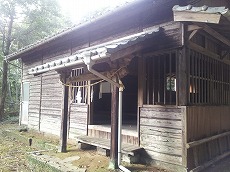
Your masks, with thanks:
<instances>
[{"instance_id":1,"label":"dark lattice window on front wall, just right of the doorway","mask_svg":"<svg viewBox=\"0 0 230 172\"><path fill-rule=\"evenodd\" d=\"M146 59L145 104L176 104L176 52Z\"/></svg>"}]
</instances>

